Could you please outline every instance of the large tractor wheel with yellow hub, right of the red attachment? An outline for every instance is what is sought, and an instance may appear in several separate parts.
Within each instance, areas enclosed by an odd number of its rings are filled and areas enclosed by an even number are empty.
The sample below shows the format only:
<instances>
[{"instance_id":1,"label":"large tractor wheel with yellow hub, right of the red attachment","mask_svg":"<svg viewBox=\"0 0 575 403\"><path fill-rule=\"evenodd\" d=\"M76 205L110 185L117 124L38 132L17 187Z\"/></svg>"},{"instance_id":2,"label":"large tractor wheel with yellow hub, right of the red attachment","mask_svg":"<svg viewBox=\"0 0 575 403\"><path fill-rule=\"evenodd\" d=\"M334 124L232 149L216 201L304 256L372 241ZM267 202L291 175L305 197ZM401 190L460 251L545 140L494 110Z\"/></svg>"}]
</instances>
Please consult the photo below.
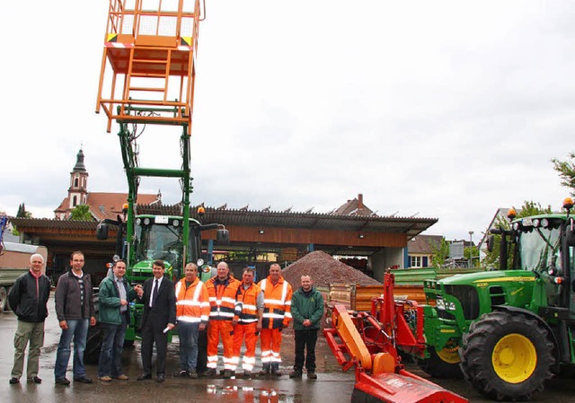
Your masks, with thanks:
<instances>
[{"instance_id":1,"label":"large tractor wheel with yellow hub, right of the red attachment","mask_svg":"<svg viewBox=\"0 0 575 403\"><path fill-rule=\"evenodd\" d=\"M555 363L547 329L526 315L493 311L464 337L465 379L495 400L528 400L544 389Z\"/></svg>"}]
</instances>

